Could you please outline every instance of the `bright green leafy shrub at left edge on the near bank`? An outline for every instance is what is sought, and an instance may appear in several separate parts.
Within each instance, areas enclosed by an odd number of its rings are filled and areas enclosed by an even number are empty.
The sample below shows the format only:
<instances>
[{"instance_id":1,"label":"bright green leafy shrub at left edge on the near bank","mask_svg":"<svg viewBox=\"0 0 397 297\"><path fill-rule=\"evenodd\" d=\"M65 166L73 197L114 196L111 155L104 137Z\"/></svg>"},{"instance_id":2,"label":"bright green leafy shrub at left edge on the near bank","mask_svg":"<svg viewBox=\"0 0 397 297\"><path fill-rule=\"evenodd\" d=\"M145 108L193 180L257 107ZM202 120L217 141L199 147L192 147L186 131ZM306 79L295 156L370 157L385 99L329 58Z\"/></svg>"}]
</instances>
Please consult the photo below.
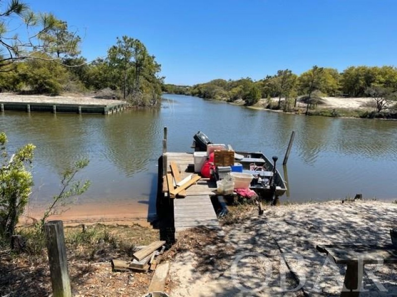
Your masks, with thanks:
<instances>
[{"instance_id":1,"label":"bright green leafy shrub at left edge on the near bank","mask_svg":"<svg viewBox=\"0 0 397 297\"><path fill-rule=\"evenodd\" d=\"M9 238L14 234L33 185L32 174L26 166L32 162L35 146L28 144L8 158L6 142L5 133L0 133L0 236Z\"/></svg>"}]
</instances>

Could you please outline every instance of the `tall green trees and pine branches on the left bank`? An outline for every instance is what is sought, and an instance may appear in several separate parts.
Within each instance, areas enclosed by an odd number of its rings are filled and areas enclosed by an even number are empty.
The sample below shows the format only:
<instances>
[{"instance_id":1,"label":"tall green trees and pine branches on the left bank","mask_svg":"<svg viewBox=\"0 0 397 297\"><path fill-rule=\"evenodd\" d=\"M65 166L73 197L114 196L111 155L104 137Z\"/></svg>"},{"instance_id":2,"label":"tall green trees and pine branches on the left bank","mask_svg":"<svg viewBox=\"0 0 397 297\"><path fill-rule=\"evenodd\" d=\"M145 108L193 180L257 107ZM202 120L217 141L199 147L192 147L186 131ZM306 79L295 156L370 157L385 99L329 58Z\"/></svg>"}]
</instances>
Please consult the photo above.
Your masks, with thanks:
<instances>
[{"instance_id":1,"label":"tall green trees and pine branches on the left bank","mask_svg":"<svg viewBox=\"0 0 397 297\"><path fill-rule=\"evenodd\" d=\"M66 21L35 13L20 0L2 7L1 92L58 95L101 90L102 95L114 95L135 106L160 104L161 65L139 40L117 37L106 57L87 61L80 51L82 39ZM21 32L23 28L26 32Z\"/></svg>"}]
</instances>

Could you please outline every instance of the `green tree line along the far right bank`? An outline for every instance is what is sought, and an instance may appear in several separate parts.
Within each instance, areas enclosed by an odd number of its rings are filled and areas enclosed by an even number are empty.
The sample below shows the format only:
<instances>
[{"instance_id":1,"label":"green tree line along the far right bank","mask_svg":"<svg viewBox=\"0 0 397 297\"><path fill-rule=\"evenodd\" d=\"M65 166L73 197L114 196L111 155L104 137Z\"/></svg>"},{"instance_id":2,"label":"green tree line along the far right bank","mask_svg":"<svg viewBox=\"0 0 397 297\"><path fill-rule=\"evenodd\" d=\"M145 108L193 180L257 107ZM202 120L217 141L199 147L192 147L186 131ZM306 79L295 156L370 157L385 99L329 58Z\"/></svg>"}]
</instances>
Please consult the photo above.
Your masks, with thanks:
<instances>
[{"instance_id":1,"label":"green tree line along the far right bank","mask_svg":"<svg viewBox=\"0 0 397 297\"><path fill-rule=\"evenodd\" d=\"M261 98L275 97L278 98L277 102L269 100L267 107L285 111L295 107L298 99L307 103L308 110L320 97L372 97L376 101L377 111L380 112L397 100L397 68L351 66L340 73L334 68L315 65L299 76L284 69L259 81L253 81L249 77L234 81L215 79L190 88L165 85L164 91L176 91L176 94L206 99L241 99L245 105L253 105Z\"/></svg>"}]
</instances>

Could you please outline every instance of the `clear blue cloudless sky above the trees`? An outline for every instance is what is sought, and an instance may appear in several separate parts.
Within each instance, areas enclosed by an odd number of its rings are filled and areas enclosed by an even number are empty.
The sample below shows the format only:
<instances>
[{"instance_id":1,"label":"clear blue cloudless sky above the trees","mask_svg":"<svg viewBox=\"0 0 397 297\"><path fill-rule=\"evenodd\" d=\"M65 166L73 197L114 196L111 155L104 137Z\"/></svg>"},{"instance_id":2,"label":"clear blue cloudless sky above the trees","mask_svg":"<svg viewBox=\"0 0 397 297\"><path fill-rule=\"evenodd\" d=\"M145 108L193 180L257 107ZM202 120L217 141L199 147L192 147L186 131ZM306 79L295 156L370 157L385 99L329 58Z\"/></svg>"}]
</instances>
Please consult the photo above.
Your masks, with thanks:
<instances>
[{"instance_id":1,"label":"clear blue cloudless sky above the trees","mask_svg":"<svg viewBox=\"0 0 397 297\"><path fill-rule=\"evenodd\" d=\"M254 80L313 65L397 66L397 0L27 0L78 29L82 55L144 43L166 83Z\"/></svg>"}]
</instances>

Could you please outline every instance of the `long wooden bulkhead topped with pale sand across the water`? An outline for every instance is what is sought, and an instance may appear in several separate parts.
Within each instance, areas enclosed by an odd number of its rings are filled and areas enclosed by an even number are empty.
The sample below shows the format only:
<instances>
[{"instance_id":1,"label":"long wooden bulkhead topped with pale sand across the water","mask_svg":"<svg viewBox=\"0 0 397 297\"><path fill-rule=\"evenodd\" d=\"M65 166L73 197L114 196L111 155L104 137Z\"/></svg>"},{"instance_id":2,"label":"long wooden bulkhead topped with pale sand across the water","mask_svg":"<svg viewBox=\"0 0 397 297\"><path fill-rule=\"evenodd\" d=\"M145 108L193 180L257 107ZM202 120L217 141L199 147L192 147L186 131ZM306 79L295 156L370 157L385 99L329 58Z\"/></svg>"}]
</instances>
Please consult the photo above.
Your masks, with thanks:
<instances>
[{"instance_id":1,"label":"long wooden bulkhead topped with pale sand across the water","mask_svg":"<svg viewBox=\"0 0 397 297\"><path fill-rule=\"evenodd\" d=\"M0 111L112 114L127 107L127 102L92 97L24 96L0 94Z\"/></svg>"}]
</instances>

